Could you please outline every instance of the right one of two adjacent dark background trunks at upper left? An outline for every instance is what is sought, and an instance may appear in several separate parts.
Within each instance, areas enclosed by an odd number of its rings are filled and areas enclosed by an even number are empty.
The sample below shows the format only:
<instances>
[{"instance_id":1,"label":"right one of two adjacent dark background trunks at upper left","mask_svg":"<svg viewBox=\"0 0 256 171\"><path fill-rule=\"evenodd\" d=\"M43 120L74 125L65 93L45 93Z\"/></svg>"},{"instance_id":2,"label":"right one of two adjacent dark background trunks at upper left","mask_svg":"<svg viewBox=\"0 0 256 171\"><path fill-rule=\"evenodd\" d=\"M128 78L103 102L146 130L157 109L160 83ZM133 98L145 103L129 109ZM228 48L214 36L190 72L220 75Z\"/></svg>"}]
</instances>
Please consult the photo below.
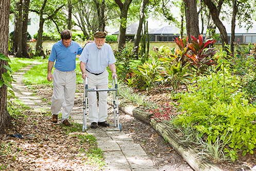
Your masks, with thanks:
<instances>
[{"instance_id":1,"label":"right one of two adjacent dark background trunks at upper left","mask_svg":"<svg viewBox=\"0 0 256 171\"><path fill-rule=\"evenodd\" d=\"M22 56L29 58L27 52L27 37L28 37L28 11L30 0L23 0L23 22L22 22Z\"/></svg>"}]
</instances>

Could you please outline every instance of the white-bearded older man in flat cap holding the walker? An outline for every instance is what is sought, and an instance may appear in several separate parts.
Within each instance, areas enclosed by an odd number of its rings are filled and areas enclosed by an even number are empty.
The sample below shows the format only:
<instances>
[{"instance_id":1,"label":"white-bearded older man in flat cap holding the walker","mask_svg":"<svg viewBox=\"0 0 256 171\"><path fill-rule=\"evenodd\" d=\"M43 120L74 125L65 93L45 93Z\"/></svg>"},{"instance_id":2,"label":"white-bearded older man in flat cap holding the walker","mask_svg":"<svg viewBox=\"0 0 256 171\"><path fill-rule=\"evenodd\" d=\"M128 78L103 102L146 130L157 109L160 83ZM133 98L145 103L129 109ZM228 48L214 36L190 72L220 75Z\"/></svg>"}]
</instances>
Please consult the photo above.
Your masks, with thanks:
<instances>
[{"instance_id":1,"label":"white-bearded older man in flat cap holding the walker","mask_svg":"<svg viewBox=\"0 0 256 171\"><path fill-rule=\"evenodd\" d=\"M107 66L112 71L112 77L117 77L116 59L111 46L105 43L105 37L105 32L94 33L94 43L87 44L79 58L82 78L88 77L88 89L108 89ZM97 128L97 123L101 126L109 126L106 122L107 91L99 91L99 112L96 92L88 92L88 107L91 128Z\"/></svg>"}]
</instances>

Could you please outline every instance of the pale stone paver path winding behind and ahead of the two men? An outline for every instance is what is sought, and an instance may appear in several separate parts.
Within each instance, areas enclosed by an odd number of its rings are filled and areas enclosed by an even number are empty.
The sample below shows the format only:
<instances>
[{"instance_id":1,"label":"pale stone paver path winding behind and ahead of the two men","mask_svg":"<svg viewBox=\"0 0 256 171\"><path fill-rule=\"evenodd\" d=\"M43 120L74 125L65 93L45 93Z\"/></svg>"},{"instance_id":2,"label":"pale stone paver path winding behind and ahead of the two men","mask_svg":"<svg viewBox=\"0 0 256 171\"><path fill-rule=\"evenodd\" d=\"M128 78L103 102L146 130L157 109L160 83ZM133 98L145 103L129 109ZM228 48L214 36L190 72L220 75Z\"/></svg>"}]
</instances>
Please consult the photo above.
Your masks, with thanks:
<instances>
[{"instance_id":1,"label":"pale stone paver path winding behind and ahead of the two men","mask_svg":"<svg viewBox=\"0 0 256 171\"><path fill-rule=\"evenodd\" d=\"M32 108L49 108L49 105L42 103L40 98L32 96L32 93L26 90L22 80L24 74L33 66L40 63L29 65L13 74L16 83L12 83L15 96ZM71 118L77 123L82 124L82 112L71 113ZM98 126L97 129L90 129L87 121L87 132L96 137L98 147L105 155L105 170L157 170L153 168L153 162L147 156L142 147L129 138L124 132L119 131L113 124L109 128Z\"/></svg>"}]
</instances>

